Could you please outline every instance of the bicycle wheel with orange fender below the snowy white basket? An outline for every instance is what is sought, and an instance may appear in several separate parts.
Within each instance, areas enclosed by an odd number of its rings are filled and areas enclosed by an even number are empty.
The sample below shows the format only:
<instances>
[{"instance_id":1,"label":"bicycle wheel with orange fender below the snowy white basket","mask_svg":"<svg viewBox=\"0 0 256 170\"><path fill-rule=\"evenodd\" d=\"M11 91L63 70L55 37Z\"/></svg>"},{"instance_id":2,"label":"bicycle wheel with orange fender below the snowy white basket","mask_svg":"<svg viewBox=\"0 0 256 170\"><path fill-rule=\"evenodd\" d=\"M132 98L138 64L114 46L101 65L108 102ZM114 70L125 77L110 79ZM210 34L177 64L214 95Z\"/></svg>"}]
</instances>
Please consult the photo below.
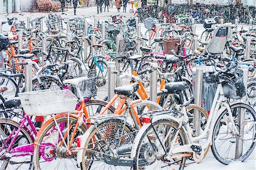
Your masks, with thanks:
<instances>
[{"instance_id":1,"label":"bicycle wheel with orange fender below the snowy white basket","mask_svg":"<svg viewBox=\"0 0 256 170\"><path fill-rule=\"evenodd\" d=\"M61 116L56 118L61 134L68 145L77 123L76 116ZM37 140L34 143L34 166L35 169L80 169L76 163L77 137L85 133L87 126L84 122L76 129L71 148L68 153L67 147L63 144L60 131L51 118L38 131ZM69 134L68 134L69 129ZM68 138L69 137L69 138Z\"/></svg>"}]
</instances>

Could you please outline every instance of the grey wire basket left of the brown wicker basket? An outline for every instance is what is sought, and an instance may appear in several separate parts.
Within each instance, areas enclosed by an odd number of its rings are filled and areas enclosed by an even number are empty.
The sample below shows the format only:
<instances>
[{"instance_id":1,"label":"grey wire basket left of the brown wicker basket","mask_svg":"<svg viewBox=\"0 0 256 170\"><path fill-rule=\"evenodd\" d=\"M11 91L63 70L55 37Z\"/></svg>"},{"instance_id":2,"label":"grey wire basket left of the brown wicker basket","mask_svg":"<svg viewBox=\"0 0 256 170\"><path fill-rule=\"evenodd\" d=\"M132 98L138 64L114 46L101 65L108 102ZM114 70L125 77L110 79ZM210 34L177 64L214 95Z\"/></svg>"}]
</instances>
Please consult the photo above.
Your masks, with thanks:
<instances>
[{"instance_id":1,"label":"grey wire basket left of the brown wicker basket","mask_svg":"<svg viewBox=\"0 0 256 170\"><path fill-rule=\"evenodd\" d=\"M118 54L121 57L129 57L129 53L133 56L137 44L131 40L119 40Z\"/></svg>"}]
</instances>

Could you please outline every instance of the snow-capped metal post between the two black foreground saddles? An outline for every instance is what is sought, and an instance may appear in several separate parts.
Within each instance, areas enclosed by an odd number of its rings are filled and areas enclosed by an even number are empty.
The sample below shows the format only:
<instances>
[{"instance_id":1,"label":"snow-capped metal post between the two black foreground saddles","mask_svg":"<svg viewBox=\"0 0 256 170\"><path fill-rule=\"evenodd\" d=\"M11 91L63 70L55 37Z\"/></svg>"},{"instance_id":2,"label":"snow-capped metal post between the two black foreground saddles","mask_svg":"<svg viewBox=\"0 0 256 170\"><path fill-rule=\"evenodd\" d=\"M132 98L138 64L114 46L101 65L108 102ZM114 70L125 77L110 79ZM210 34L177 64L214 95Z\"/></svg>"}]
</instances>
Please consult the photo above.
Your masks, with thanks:
<instances>
[{"instance_id":1,"label":"snow-capped metal post between the two black foreground saddles","mask_svg":"<svg viewBox=\"0 0 256 170\"><path fill-rule=\"evenodd\" d=\"M158 93L158 72L156 71L158 64L151 63L150 65L154 71L150 73L150 100L156 102Z\"/></svg>"}]
</instances>

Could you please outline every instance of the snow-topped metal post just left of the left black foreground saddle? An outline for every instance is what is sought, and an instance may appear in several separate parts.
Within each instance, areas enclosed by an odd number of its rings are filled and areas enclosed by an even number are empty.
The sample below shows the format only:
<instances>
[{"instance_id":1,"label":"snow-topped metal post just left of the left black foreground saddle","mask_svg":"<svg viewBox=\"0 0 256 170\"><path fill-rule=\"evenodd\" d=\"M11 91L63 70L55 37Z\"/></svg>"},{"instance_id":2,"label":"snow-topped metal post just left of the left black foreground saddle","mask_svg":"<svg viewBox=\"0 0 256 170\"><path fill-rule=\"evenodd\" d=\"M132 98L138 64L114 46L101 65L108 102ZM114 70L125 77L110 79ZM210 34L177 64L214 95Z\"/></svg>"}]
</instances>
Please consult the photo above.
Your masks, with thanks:
<instances>
[{"instance_id":1,"label":"snow-topped metal post just left of the left black foreground saddle","mask_svg":"<svg viewBox=\"0 0 256 170\"><path fill-rule=\"evenodd\" d=\"M113 71L115 70L115 62L109 61L108 62L109 70L108 70L108 101L112 99L114 96L114 89L115 89L115 74Z\"/></svg>"}]
</instances>

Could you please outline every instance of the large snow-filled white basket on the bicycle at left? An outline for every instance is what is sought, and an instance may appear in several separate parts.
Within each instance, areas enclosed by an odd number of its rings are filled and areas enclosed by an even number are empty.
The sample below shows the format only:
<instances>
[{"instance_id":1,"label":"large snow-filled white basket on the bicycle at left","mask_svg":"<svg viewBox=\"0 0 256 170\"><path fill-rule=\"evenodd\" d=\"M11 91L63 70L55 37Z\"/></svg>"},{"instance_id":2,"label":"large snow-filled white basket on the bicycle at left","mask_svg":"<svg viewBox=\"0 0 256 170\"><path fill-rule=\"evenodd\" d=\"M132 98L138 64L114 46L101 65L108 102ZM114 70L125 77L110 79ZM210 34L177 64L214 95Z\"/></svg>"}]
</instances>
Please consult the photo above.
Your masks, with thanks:
<instances>
[{"instance_id":1,"label":"large snow-filled white basket on the bicycle at left","mask_svg":"<svg viewBox=\"0 0 256 170\"><path fill-rule=\"evenodd\" d=\"M40 90L19 94L24 112L34 116L75 111L77 97L70 90Z\"/></svg>"}]
</instances>

